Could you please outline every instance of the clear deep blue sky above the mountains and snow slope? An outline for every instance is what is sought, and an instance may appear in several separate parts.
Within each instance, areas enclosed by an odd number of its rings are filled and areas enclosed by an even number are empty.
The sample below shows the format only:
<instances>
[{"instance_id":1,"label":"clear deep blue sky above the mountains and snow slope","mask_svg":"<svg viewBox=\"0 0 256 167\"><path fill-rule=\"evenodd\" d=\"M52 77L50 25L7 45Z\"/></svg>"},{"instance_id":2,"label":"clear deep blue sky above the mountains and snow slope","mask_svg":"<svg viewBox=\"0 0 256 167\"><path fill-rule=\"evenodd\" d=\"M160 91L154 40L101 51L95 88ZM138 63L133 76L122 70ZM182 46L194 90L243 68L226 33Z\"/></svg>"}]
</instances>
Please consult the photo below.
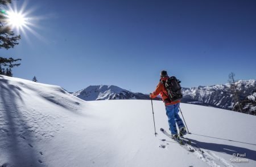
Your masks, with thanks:
<instances>
[{"instance_id":1,"label":"clear deep blue sky above the mountains and snow slope","mask_svg":"<svg viewBox=\"0 0 256 167\"><path fill-rule=\"evenodd\" d=\"M24 1L17 2L18 8ZM154 91L161 70L183 87L256 79L256 1L27 1L31 27L1 56L14 76L68 91L113 84Z\"/></svg>"}]
</instances>

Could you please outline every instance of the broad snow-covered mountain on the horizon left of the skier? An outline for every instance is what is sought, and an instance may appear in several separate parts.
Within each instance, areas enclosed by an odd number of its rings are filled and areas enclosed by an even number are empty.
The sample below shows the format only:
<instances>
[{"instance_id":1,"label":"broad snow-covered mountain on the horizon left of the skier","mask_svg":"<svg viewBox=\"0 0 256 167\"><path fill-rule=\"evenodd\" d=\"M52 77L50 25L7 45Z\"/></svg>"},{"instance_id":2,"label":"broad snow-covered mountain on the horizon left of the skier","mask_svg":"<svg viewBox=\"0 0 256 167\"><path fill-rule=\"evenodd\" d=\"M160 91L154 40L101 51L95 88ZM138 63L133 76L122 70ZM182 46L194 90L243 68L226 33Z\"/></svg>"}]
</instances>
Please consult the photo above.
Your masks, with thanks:
<instances>
[{"instance_id":1,"label":"broad snow-covered mountain on the horizon left of the skier","mask_svg":"<svg viewBox=\"0 0 256 167\"><path fill-rule=\"evenodd\" d=\"M119 88L115 85L93 85L81 91L72 93L82 100L118 100L118 99L143 99L148 100L150 97L143 93L134 93L126 89Z\"/></svg>"}]
</instances>

